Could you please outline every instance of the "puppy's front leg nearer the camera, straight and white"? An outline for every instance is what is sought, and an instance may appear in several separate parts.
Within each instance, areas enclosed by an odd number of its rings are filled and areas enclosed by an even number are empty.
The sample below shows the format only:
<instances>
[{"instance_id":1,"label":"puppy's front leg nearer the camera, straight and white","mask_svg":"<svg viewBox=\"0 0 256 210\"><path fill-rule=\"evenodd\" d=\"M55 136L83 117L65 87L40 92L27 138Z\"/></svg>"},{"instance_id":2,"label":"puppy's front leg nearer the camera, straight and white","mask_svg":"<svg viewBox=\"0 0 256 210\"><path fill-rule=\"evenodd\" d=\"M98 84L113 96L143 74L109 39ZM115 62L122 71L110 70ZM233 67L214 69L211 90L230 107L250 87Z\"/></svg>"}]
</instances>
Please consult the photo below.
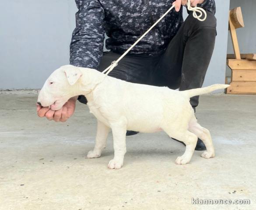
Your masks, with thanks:
<instances>
[{"instance_id":1,"label":"puppy's front leg nearer the camera, straight and white","mask_svg":"<svg viewBox=\"0 0 256 210\"><path fill-rule=\"evenodd\" d=\"M109 161L109 169L119 169L123 166L123 158L126 154L126 125L115 123L111 125L114 140L114 159Z\"/></svg>"}]
</instances>

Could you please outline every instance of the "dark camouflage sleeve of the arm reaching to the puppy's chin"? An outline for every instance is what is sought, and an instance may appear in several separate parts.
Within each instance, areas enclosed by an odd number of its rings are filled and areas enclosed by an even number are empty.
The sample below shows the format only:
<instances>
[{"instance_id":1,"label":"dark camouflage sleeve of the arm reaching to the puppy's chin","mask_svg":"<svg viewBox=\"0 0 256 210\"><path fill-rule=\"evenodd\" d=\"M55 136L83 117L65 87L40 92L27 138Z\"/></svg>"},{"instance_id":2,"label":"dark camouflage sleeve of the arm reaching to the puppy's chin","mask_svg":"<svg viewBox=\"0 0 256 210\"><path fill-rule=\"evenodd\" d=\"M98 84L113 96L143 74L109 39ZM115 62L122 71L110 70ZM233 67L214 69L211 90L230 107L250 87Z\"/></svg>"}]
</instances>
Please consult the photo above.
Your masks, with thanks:
<instances>
[{"instance_id":1,"label":"dark camouflage sleeve of the arm reaching to the puppy's chin","mask_svg":"<svg viewBox=\"0 0 256 210\"><path fill-rule=\"evenodd\" d=\"M98 0L75 0L76 28L70 43L70 64L97 69L103 54L104 10Z\"/></svg>"}]
</instances>

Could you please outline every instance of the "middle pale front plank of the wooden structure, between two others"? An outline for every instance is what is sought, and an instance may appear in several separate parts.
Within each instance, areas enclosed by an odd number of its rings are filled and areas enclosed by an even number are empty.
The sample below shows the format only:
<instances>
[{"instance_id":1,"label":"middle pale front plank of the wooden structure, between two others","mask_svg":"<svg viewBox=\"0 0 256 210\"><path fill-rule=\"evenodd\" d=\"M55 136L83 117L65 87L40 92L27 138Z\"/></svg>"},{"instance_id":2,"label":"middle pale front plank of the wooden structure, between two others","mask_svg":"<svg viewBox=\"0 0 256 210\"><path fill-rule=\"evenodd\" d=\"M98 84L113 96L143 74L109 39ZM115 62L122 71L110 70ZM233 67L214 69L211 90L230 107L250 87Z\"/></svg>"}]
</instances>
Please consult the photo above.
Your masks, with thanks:
<instances>
[{"instance_id":1,"label":"middle pale front plank of the wooden structure, between two others","mask_svg":"<svg viewBox=\"0 0 256 210\"><path fill-rule=\"evenodd\" d=\"M256 70L233 70L232 82L256 82Z\"/></svg>"}]
</instances>

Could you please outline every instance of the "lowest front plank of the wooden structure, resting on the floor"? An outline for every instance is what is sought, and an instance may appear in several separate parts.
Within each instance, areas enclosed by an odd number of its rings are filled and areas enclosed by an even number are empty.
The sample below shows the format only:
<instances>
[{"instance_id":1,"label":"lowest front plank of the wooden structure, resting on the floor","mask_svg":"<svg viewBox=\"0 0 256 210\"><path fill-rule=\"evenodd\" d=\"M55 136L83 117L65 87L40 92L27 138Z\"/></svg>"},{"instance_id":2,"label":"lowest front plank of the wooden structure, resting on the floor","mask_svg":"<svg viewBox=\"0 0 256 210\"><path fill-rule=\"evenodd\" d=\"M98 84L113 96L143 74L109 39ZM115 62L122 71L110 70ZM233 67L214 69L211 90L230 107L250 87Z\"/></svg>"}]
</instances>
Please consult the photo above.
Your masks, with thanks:
<instances>
[{"instance_id":1,"label":"lowest front plank of the wooden structure, resting on the floor","mask_svg":"<svg viewBox=\"0 0 256 210\"><path fill-rule=\"evenodd\" d=\"M227 94L256 95L256 82L231 82Z\"/></svg>"}]
</instances>

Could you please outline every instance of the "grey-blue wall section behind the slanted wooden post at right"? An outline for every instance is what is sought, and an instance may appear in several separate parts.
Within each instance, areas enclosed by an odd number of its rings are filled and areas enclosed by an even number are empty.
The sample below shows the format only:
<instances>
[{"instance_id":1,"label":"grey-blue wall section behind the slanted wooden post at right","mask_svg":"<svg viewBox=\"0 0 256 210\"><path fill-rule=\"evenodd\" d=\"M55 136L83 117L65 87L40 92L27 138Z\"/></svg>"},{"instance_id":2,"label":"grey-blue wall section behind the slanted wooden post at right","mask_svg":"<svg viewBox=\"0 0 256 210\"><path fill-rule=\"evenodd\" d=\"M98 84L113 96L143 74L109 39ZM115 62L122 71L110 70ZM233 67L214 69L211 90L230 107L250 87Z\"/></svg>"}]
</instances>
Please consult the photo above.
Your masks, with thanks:
<instances>
[{"instance_id":1,"label":"grey-blue wall section behind the slanted wooden post at right","mask_svg":"<svg viewBox=\"0 0 256 210\"><path fill-rule=\"evenodd\" d=\"M241 53L256 53L256 0L230 0L230 9L242 8L244 28L236 30ZM228 33L228 54L234 53L231 36ZM227 76L231 75L231 70L227 67Z\"/></svg>"}]
</instances>

